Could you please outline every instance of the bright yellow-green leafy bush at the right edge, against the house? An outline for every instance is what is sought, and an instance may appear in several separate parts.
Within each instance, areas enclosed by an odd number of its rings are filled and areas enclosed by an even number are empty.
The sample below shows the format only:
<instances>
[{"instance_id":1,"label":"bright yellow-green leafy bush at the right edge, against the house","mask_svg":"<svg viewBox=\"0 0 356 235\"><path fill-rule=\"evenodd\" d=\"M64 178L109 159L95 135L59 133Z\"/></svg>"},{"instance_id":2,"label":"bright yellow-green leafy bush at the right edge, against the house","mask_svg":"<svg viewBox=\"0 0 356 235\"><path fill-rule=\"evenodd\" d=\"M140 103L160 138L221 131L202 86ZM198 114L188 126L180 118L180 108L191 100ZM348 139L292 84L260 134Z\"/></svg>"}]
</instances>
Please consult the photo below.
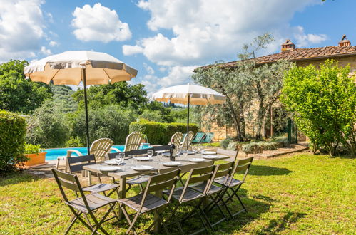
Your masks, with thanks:
<instances>
[{"instance_id":1,"label":"bright yellow-green leafy bush at the right edge, against the house","mask_svg":"<svg viewBox=\"0 0 356 235\"><path fill-rule=\"evenodd\" d=\"M292 68L284 79L281 100L295 114L314 150L325 148L335 155L342 145L356 156L356 86L350 66L327 60L315 66Z\"/></svg>"}]
</instances>

